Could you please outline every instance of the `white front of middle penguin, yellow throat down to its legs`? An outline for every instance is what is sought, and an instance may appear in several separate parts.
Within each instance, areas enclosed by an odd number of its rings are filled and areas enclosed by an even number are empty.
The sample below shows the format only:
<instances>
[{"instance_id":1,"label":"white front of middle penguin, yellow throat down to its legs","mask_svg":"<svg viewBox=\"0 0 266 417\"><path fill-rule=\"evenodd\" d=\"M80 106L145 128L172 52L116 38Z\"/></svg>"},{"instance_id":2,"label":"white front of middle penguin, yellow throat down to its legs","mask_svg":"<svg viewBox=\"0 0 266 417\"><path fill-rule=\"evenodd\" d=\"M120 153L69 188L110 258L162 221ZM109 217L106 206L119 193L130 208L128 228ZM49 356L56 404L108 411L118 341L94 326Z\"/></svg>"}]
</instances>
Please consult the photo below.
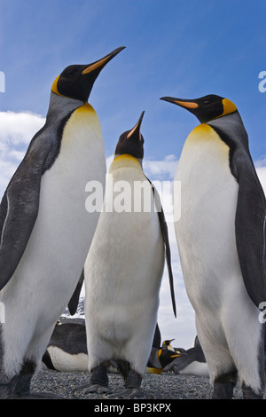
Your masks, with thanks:
<instances>
[{"instance_id":1,"label":"white front of middle penguin, yellow throat down to its legs","mask_svg":"<svg viewBox=\"0 0 266 417\"><path fill-rule=\"evenodd\" d=\"M127 181L132 193L134 182L145 181L153 198L141 165L132 156L115 158L109 174L113 184L109 175L106 204L112 198L111 187L121 181ZM138 374L145 373L163 266L164 247L157 213L113 211L100 216L84 267L90 371L107 359L119 358L132 364Z\"/></svg>"}]
</instances>

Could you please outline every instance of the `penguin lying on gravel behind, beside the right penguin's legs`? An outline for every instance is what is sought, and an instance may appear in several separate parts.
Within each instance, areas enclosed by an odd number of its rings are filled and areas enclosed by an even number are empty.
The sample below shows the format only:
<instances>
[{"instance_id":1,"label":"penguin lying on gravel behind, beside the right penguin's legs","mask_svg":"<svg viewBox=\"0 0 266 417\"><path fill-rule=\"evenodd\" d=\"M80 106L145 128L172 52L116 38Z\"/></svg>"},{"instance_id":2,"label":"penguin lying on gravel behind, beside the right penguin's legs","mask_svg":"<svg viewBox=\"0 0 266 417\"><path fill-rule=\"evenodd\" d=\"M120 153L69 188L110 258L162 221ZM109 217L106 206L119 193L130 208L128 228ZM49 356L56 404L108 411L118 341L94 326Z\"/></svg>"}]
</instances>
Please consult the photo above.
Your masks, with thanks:
<instances>
[{"instance_id":1,"label":"penguin lying on gravel behind, beside the right penguin's legs","mask_svg":"<svg viewBox=\"0 0 266 417\"><path fill-rule=\"evenodd\" d=\"M195 375L209 377L206 358L200 346L199 337L195 337L194 346L191 349L185 350L185 355L175 358L168 366L165 367L165 372L173 371L180 375Z\"/></svg>"}]
</instances>

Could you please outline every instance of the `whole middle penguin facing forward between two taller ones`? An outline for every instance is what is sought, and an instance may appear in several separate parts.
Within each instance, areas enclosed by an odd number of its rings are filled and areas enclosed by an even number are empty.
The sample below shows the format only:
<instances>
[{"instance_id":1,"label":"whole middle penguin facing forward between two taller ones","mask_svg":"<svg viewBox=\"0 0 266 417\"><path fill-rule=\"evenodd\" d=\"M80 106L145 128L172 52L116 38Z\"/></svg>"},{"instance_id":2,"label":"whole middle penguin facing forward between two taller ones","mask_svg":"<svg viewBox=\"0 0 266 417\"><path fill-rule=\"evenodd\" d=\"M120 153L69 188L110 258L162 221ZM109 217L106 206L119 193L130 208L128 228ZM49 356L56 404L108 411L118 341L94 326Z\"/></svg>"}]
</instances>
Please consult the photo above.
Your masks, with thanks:
<instances>
[{"instance_id":1,"label":"whole middle penguin facing forward between two taller ones","mask_svg":"<svg viewBox=\"0 0 266 417\"><path fill-rule=\"evenodd\" d=\"M166 223L159 196L142 169L143 114L116 146L103 212L84 266L90 382L77 389L108 392L106 361L114 359L125 389L110 397L134 397L140 388L151 353L164 268ZM174 297L172 303L176 314Z\"/></svg>"}]
</instances>

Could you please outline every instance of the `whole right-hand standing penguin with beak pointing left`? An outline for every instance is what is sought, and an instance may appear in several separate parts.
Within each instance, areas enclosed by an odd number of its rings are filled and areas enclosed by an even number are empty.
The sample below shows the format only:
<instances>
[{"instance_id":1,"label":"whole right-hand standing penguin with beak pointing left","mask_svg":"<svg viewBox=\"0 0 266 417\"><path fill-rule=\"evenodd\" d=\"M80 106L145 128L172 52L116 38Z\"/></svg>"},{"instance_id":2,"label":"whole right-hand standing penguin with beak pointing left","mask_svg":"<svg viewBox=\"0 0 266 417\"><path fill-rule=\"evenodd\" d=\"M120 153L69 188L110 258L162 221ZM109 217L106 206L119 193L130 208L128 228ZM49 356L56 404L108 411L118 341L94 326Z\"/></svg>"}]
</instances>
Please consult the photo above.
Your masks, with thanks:
<instances>
[{"instance_id":1,"label":"whole right-hand standing penguin with beak pointing left","mask_svg":"<svg viewBox=\"0 0 266 417\"><path fill-rule=\"evenodd\" d=\"M175 229L214 398L231 398L237 375L244 398L262 397L266 205L246 130L227 98L163 99L201 123L176 169L182 216Z\"/></svg>"}]
</instances>

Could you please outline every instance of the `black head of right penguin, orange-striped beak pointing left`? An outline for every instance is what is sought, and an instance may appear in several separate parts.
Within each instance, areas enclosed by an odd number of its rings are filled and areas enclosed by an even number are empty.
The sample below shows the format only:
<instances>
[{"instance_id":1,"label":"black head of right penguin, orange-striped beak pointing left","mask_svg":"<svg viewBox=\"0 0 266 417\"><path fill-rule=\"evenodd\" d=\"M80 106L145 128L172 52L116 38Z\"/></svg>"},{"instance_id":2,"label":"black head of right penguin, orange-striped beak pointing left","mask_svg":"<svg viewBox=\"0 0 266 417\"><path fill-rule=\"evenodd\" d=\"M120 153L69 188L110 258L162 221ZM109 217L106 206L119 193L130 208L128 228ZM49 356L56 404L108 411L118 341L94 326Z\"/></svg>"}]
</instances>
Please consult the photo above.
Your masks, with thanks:
<instances>
[{"instance_id":1,"label":"black head of right penguin, orange-striped beak pointing left","mask_svg":"<svg viewBox=\"0 0 266 417\"><path fill-rule=\"evenodd\" d=\"M194 114L200 123L207 123L218 117L236 112L237 106L228 98L209 94L208 96L187 100L183 98L162 97L161 100L169 101L177 106L186 108Z\"/></svg>"}]
</instances>

